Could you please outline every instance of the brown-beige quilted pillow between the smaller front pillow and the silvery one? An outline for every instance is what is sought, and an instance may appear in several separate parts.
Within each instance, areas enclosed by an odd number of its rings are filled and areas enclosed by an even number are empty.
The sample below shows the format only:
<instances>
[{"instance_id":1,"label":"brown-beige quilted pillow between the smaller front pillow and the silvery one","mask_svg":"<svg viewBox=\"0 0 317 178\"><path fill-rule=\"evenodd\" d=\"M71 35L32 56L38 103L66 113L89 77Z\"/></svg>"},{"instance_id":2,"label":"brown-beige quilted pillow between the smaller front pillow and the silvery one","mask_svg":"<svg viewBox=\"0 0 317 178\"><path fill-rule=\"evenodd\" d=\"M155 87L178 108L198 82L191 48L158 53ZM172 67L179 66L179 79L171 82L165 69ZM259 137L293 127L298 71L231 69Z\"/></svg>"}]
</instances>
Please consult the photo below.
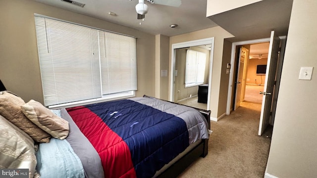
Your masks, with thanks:
<instances>
[{"instance_id":1,"label":"brown-beige quilted pillow between the smaller front pillow and the silvery one","mask_svg":"<svg viewBox=\"0 0 317 178\"><path fill-rule=\"evenodd\" d=\"M30 135L35 141L50 142L51 135L33 124L21 111L22 98L10 91L0 91L0 115Z\"/></svg>"}]
</instances>

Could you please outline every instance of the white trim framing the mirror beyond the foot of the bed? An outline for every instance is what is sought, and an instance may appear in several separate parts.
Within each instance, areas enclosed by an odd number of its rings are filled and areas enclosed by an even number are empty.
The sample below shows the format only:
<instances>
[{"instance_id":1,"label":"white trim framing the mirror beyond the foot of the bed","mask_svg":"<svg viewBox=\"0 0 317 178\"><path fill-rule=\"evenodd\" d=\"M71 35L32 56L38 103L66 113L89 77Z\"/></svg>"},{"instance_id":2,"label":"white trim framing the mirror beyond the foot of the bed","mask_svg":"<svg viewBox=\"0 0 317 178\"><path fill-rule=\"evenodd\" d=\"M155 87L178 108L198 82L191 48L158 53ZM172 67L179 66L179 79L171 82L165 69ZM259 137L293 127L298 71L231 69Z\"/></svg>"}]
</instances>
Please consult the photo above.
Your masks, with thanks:
<instances>
[{"instance_id":1,"label":"white trim framing the mirror beyond the foot of the bed","mask_svg":"<svg viewBox=\"0 0 317 178\"><path fill-rule=\"evenodd\" d=\"M170 90L169 90L169 101L174 100L174 70L175 70L175 49L182 48L182 47L190 47L196 45L210 45L210 67L209 67L209 87L208 87L208 98L210 98L211 93L211 73L212 73L212 61L213 61L213 47L214 47L214 37L182 42L177 44L172 44L172 52L171 52L171 67L170 67ZM210 107L210 99L207 100L207 110Z\"/></svg>"}]
</instances>

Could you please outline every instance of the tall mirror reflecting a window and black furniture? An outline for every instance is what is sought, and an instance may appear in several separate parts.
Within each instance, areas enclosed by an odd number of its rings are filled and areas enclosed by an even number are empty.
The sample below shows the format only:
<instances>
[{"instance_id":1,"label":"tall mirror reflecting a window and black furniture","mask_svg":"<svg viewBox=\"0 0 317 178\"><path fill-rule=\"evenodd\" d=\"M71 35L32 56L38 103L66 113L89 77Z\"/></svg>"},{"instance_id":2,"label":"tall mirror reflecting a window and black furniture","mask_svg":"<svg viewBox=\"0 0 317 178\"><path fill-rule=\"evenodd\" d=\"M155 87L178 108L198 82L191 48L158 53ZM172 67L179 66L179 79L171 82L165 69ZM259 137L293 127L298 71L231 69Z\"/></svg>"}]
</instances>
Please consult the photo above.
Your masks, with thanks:
<instances>
[{"instance_id":1,"label":"tall mirror reflecting a window and black furniture","mask_svg":"<svg viewBox=\"0 0 317 178\"><path fill-rule=\"evenodd\" d=\"M207 109L211 45L175 49L174 102Z\"/></svg>"}]
</instances>

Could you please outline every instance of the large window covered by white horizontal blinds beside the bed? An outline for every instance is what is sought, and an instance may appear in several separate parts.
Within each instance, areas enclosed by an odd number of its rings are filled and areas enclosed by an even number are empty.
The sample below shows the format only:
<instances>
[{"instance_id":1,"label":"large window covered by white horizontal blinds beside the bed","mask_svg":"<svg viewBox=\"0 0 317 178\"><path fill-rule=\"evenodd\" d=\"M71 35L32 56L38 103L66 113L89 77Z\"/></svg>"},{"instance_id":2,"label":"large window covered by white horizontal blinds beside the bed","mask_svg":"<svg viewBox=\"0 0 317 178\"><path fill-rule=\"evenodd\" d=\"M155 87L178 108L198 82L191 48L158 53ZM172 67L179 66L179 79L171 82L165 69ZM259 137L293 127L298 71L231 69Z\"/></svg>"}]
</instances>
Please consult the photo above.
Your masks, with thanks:
<instances>
[{"instance_id":1,"label":"large window covered by white horizontal blinds beside the bed","mask_svg":"<svg viewBox=\"0 0 317 178\"><path fill-rule=\"evenodd\" d=\"M39 15L35 25L46 106L134 96L134 37Z\"/></svg>"}]
</instances>

